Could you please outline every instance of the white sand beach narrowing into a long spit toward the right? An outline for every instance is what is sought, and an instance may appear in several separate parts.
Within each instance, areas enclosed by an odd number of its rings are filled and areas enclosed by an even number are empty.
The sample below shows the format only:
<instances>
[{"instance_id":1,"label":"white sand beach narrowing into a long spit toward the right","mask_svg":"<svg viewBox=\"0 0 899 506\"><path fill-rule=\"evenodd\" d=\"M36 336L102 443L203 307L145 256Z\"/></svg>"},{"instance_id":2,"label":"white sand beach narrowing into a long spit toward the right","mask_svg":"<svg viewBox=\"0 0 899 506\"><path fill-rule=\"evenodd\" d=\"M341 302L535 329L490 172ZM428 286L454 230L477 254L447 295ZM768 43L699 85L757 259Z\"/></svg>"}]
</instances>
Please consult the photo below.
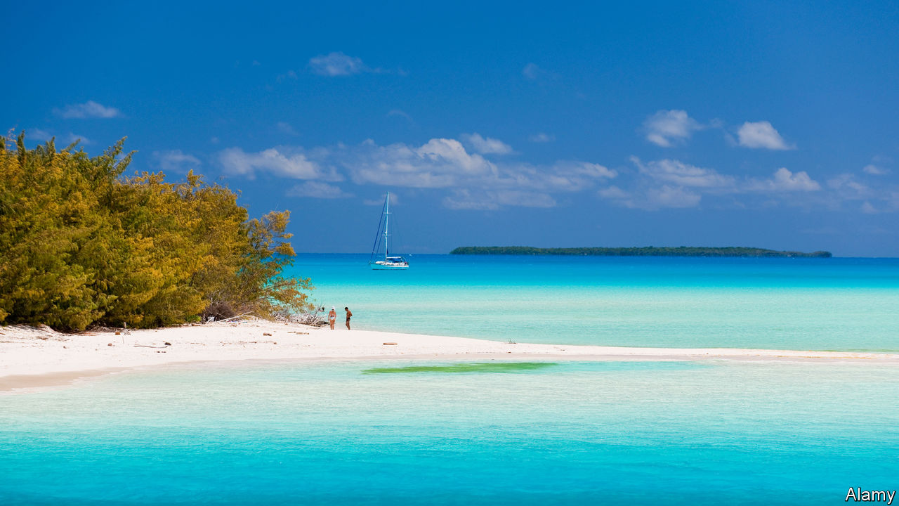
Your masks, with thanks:
<instances>
[{"instance_id":1,"label":"white sand beach narrowing into a long spit toward the right","mask_svg":"<svg viewBox=\"0 0 899 506\"><path fill-rule=\"evenodd\" d=\"M166 345L165 343L169 343ZM396 343L396 344L385 344ZM183 362L315 359L779 360L895 364L899 354L742 348L621 348L512 344L372 330L329 330L271 321L159 330L60 334L0 327L0 392L67 384L132 367Z\"/></svg>"}]
</instances>

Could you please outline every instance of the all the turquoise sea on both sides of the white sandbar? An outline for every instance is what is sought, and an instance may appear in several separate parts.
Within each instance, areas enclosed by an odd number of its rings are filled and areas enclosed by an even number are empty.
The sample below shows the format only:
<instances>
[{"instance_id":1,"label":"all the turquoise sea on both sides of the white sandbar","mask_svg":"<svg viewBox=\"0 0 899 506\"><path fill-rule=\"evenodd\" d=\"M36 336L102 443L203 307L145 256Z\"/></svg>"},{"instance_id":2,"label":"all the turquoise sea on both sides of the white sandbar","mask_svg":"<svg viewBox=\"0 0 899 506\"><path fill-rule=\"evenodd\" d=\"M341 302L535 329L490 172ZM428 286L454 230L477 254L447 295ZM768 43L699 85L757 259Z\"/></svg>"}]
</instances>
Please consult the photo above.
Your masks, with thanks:
<instances>
[{"instance_id":1,"label":"all the turquoise sea on both sides of the white sandbar","mask_svg":"<svg viewBox=\"0 0 899 506\"><path fill-rule=\"evenodd\" d=\"M899 348L895 260L416 256L383 273L356 259L304 256L296 272L322 303L351 305L359 328ZM0 396L0 504L844 503L850 487L899 488L897 373L836 361L138 369Z\"/></svg>"}]
</instances>

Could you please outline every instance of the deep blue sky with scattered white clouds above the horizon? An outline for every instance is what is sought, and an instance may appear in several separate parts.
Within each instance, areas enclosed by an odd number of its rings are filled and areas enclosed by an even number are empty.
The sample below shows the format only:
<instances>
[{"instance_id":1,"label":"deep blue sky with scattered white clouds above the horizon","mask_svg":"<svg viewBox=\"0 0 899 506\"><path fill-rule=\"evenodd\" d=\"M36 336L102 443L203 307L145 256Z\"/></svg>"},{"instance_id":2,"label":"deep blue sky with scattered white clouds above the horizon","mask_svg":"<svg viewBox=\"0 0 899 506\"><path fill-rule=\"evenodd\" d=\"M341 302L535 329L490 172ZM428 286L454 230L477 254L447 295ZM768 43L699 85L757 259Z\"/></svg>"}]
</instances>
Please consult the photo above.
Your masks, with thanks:
<instances>
[{"instance_id":1,"label":"deep blue sky with scattered white clouds above the horizon","mask_svg":"<svg viewBox=\"0 0 899 506\"><path fill-rule=\"evenodd\" d=\"M4 2L0 124L120 137L298 251L899 257L899 5ZM58 144L60 142L58 141Z\"/></svg>"}]
</instances>

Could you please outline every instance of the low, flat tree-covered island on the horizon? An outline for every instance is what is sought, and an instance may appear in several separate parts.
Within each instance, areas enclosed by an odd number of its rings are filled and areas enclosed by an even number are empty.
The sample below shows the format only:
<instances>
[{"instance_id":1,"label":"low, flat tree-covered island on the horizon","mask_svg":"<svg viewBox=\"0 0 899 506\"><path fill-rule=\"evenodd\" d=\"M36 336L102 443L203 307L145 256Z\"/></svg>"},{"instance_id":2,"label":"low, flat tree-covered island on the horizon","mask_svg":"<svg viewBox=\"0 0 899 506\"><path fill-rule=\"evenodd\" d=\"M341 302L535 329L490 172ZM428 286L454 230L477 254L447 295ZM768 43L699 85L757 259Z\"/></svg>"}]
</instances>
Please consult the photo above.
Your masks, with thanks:
<instances>
[{"instance_id":1,"label":"low, flat tree-covered island on the horizon","mask_svg":"<svg viewBox=\"0 0 899 506\"><path fill-rule=\"evenodd\" d=\"M463 246L450 255L579 255L583 257L747 257L747 258L831 258L830 251L777 251L764 248L531 248L530 246Z\"/></svg>"}]
</instances>

